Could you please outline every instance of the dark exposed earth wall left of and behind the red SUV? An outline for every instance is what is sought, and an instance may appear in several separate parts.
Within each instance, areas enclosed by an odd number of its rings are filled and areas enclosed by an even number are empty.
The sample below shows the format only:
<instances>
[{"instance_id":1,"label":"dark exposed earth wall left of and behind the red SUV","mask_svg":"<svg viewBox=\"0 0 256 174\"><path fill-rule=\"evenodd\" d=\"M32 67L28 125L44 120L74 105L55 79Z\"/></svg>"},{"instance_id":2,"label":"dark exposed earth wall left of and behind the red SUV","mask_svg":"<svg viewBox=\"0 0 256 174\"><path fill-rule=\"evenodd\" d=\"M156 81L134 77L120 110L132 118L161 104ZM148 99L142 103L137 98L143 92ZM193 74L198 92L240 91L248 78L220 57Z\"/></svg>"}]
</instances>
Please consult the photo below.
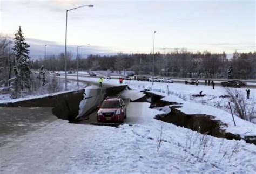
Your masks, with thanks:
<instances>
[{"instance_id":1,"label":"dark exposed earth wall left of and behind the red SUV","mask_svg":"<svg viewBox=\"0 0 256 174\"><path fill-rule=\"evenodd\" d=\"M116 87L107 87L102 89L96 95L102 95L102 99L106 96L115 96L119 92L123 91L126 86L116 86ZM90 89L89 89L90 90ZM92 89L93 90L93 89ZM100 89L98 89L100 90ZM85 90L80 89L78 91L66 92L56 95L44 96L42 98L28 99L17 102L8 102L0 104L0 107L52 107L52 114L57 116L58 119L69 120L70 122L75 121L75 117L79 113L79 105L80 102L84 99ZM97 107L97 105L101 101L90 103L87 105L89 108L89 112L85 114L90 114L93 109Z\"/></svg>"}]
</instances>

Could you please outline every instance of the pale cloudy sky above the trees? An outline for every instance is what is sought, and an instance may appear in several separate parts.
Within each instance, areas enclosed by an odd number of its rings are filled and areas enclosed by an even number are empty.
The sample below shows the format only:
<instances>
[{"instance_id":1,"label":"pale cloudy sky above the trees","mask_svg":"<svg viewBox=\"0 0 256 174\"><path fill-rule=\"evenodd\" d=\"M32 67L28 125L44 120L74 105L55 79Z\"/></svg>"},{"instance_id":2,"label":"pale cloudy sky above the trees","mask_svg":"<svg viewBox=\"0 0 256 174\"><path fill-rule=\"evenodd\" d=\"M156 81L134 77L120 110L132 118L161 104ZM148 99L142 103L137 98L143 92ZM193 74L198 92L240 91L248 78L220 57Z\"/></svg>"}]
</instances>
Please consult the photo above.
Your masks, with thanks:
<instances>
[{"instance_id":1,"label":"pale cloudy sky above the trees","mask_svg":"<svg viewBox=\"0 0 256 174\"><path fill-rule=\"evenodd\" d=\"M21 25L44 52L44 43L65 44L66 9L90 4L69 11L68 45L90 44L91 53L149 53L154 31L156 51L255 51L255 1L247 0L0 0L0 32L13 36Z\"/></svg>"}]
</instances>

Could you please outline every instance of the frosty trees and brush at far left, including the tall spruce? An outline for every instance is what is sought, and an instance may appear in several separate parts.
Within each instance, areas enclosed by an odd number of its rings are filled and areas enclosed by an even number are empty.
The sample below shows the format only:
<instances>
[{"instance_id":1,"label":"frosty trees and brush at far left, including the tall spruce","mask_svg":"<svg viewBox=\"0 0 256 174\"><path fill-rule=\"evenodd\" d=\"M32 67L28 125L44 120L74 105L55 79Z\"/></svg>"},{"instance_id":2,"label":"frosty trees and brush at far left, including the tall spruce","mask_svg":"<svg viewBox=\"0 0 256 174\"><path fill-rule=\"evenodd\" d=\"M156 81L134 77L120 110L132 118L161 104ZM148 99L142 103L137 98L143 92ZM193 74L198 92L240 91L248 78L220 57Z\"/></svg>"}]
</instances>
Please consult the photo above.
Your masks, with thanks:
<instances>
[{"instance_id":1,"label":"frosty trees and brush at far left, including the tall spruce","mask_svg":"<svg viewBox=\"0 0 256 174\"><path fill-rule=\"evenodd\" d=\"M0 93L11 93L12 98L29 94L44 94L61 90L55 78L46 78L44 66L39 73L32 73L33 61L29 56L30 45L26 43L21 26L14 41L0 36ZM48 83L47 83L48 81Z\"/></svg>"}]
</instances>

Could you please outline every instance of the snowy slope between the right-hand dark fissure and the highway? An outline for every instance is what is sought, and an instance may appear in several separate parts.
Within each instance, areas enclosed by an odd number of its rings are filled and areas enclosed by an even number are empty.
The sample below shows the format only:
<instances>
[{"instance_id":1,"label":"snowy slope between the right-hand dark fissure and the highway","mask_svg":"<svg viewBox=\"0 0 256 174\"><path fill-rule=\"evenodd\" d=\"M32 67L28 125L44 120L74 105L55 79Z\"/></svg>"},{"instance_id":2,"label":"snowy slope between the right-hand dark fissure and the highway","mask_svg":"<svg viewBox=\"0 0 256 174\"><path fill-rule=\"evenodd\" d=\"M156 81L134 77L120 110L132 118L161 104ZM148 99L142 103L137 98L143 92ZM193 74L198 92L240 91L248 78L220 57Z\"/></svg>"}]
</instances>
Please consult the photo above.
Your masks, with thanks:
<instances>
[{"instance_id":1,"label":"snowy slope between the right-hand dark fissure and the highway","mask_svg":"<svg viewBox=\"0 0 256 174\"><path fill-rule=\"evenodd\" d=\"M72 76L69 76L72 79ZM98 82L98 78L91 77L80 77L79 80ZM120 85L118 79L106 79L103 81L103 85ZM230 109L228 108L229 98L221 98L220 96L227 95L226 88L216 86L212 89L211 86L205 85L185 85L181 83L158 83L154 82L141 82L134 80L125 80L123 85L128 85L132 89L141 91L143 89L150 89L153 93L164 96L162 100L183 103L181 112L185 114L206 114L214 116L215 119L220 120L228 127L223 127L224 130L239 134L242 137L249 135L256 135L256 124L240 119L237 115L234 115L235 122L237 126L234 126L232 115ZM167 89L169 89L169 95L167 94ZM246 95L245 89L237 89L241 94ZM193 97L193 94L206 94L203 98ZM251 89L250 100L248 100L248 105L253 107L256 105L256 89Z\"/></svg>"}]
</instances>

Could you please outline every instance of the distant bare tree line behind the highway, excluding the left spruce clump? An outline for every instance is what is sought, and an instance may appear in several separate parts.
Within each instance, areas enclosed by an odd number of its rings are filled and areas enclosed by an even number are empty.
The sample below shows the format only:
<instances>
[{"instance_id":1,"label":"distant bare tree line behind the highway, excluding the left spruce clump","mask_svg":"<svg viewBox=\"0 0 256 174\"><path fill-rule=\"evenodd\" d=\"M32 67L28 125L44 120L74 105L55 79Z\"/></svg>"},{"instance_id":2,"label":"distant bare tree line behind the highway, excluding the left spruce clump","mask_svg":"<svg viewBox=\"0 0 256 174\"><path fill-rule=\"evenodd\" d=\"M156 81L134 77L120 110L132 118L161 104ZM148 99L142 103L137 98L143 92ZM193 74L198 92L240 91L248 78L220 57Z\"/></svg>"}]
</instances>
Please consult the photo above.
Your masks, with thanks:
<instances>
[{"instance_id":1,"label":"distant bare tree line behind the highway, excluding the left spruce clump","mask_svg":"<svg viewBox=\"0 0 256 174\"><path fill-rule=\"evenodd\" d=\"M232 58L227 58L225 52L211 53L189 52L185 48L176 49L173 52L162 54L123 54L117 55L89 55L87 58L72 58L68 53L68 70L77 69L77 61L80 70L111 70L135 71L136 74L154 74L174 77L201 77L201 78L229 78L229 79L255 79L256 78L256 52L234 52ZM33 62L33 68L38 69L44 65L51 71L64 70L65 56L50 55L45 59Z\"/></svg>"}]
</instances>

